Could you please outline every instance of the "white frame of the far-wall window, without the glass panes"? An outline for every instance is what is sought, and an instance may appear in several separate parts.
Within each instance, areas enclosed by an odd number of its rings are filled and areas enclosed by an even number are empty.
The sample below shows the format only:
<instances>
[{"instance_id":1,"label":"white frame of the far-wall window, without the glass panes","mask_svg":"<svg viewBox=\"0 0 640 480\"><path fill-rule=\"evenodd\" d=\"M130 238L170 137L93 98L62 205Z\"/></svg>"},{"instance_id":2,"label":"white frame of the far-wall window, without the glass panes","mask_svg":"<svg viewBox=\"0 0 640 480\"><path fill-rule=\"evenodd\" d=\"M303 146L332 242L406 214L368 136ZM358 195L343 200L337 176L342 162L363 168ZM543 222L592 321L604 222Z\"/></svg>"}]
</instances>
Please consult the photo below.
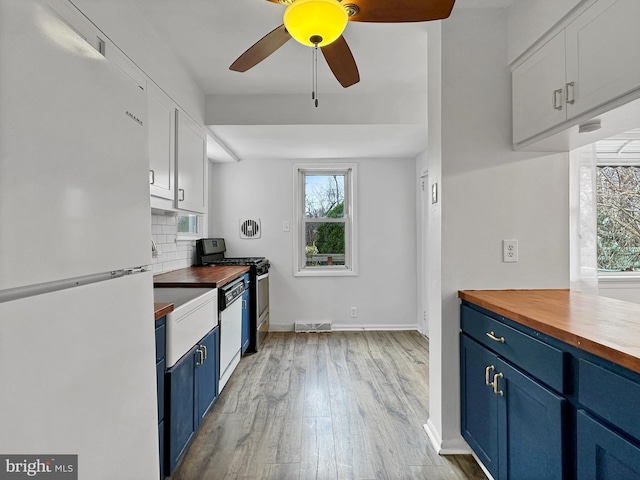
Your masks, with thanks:
<instances>
[{"instance_id":1,"label":"white frame of the far-wall window, without the glass panes","mask_svg":"<svg viewBox=\"0 0 640 480\"><path fill-rule=\"evenodd\" d=\"M317 222L317 218L305 216L305 177L307 175L344 175L344 217L325 219L322 223L344 223L345 225L345 264L344 265L306 265L305 225ZM295 277L343 277L358 275L357 268L357 164L356 163L296 163L293 167L294 183L294 240L293 275Z\"/></svg>"}]
</instances>

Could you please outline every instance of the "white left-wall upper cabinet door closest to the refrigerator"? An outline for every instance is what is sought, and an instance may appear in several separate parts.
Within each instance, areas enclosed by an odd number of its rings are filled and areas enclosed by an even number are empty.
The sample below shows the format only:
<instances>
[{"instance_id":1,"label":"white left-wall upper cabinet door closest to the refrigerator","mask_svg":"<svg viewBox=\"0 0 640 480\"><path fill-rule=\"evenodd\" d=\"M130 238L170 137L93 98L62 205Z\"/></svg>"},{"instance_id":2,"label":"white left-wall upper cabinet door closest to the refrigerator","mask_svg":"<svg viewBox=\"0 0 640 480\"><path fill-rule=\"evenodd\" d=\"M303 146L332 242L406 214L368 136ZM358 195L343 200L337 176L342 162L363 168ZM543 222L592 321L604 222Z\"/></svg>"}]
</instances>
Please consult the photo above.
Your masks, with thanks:
<instances>
[{"instance_id":1,"label":"white left-wall upper cabinet door closest to the refrigerator","mask_svg":"<svg viewBox=\"0 0 640 480\"><path fill-rule=\"evenodd\" d=\"M176 105L153 82L147 86L149 127L149 183L151 195L175 197Z\"/></svg>"}]
</instances>

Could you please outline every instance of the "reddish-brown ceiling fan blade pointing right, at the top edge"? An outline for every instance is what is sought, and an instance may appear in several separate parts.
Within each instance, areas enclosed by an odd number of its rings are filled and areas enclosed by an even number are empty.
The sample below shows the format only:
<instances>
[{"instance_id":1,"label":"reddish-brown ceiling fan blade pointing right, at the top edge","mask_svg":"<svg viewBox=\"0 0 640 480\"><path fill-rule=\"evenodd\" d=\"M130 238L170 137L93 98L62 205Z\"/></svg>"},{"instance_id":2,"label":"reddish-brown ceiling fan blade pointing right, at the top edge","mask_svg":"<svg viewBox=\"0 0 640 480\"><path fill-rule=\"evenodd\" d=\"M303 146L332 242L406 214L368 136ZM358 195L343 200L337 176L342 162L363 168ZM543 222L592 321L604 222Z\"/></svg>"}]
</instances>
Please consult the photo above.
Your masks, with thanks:
<instances>
[{"instance_id":1,"label":"reddish-brown ceiling fan blade pointing right, at the top edge","mask_svg":"<svg viewBox=\"0 0 640 480\"><path fill-rule=\"evenodd\" d=\"M358 7L350 22L427 22L451 15L455 0L345 0Z\"/></svg>"}]
</instances>

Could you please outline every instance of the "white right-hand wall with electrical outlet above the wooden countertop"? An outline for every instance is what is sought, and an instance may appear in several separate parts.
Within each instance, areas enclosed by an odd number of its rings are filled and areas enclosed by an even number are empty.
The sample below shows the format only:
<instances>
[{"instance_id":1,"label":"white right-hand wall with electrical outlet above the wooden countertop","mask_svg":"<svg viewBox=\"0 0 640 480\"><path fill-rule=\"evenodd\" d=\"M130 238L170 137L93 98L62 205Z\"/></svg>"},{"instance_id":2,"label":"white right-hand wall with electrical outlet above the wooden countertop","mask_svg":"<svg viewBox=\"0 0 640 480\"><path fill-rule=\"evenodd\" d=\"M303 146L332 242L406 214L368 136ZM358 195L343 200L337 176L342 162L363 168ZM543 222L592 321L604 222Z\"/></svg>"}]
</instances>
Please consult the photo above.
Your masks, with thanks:
<instances>
[{"instance_id":1,"label":"white right-hand wall with electrical outlet above the wooden countertop","mask_svg":"<svg viewBox=\"0 0 640 480\"><path fill-rule=\"evenodd\" d=\"M429 143L439 141L441 129L442 313L430 306L428 432L442 453L454 453L467 449L460 435L457 292L568 288L569 163L564 154L512 151L506 11L454 10L441 28L442 78L429 85L437 89L441 80L441 124L430 112ZM428 153L430 173L438 154ZM502 263L505 238L518 239L518 263Z\"/></svg>"}]
</instances>

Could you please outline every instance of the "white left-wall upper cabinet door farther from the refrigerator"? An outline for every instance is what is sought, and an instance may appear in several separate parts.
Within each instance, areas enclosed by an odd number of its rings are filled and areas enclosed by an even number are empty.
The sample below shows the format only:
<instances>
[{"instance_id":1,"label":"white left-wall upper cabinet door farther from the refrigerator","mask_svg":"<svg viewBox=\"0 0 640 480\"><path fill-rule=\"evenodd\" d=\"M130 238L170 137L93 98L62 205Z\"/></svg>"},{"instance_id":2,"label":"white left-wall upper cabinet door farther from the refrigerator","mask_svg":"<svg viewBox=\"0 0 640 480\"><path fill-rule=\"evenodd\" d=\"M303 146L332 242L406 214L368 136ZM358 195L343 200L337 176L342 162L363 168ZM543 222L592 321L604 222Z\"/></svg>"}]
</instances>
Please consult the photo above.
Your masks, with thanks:
<instances>
[{"instance_id":1,"label":"white left-wall upper cabinet door farther from the refrigerator","mask_svg":"<svg viewBox=\"0 0 640 480\"><path fill-rule=\"evenodd\" d=\"M207 140L198 125L179 110L176 123L176 207L206 213Z\"/></svg>"}]
</instances>

